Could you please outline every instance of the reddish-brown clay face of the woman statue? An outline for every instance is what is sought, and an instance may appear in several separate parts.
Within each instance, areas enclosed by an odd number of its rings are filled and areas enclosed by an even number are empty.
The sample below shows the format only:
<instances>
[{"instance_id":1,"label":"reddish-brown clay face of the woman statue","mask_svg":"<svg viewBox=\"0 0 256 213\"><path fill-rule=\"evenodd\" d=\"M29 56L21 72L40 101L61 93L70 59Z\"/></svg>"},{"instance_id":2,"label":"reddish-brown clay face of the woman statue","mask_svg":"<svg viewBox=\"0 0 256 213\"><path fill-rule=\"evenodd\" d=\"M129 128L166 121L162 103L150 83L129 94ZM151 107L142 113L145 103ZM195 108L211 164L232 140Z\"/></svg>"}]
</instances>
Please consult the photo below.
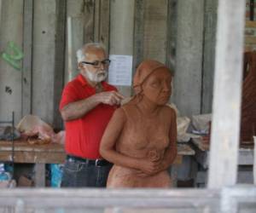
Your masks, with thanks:
<instances>
[{"instance_id":1,"label":"reddish-brown clay face of the woman statue","mask_svg":"<svg viewBox=\"0 0 256 213\"><path fill-rule=\"evenodd\" d=\"M165 105L172 94L172 75L164 67L152 72L143 83L143 95L157 105Z\"/></svg>"}]
</instances>

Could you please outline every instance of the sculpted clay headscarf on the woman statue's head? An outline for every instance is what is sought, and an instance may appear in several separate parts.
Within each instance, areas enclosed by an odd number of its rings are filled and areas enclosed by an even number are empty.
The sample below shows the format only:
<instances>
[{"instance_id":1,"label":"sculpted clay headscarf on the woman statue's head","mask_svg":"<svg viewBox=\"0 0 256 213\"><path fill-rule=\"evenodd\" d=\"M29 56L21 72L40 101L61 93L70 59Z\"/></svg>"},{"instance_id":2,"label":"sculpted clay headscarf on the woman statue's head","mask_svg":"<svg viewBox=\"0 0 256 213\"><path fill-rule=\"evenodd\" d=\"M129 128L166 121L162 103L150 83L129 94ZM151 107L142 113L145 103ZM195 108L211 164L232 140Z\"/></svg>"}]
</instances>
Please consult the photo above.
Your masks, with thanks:
<instances>
[{"instance_id":1,"label":"sculpted clay headscarf on the woman statue's head","mask_svg":"<svg viewBox=\"0 0 256 213\"><path fill-rule=\"evenodd\" d=\"M148 76L156 69L161 67L169 70L164 64L157 60L143 60L143 62L137 67L133 78L133 89L136 95L143 91L141 85L148 78Z\"/></svg>"}]
</instances>

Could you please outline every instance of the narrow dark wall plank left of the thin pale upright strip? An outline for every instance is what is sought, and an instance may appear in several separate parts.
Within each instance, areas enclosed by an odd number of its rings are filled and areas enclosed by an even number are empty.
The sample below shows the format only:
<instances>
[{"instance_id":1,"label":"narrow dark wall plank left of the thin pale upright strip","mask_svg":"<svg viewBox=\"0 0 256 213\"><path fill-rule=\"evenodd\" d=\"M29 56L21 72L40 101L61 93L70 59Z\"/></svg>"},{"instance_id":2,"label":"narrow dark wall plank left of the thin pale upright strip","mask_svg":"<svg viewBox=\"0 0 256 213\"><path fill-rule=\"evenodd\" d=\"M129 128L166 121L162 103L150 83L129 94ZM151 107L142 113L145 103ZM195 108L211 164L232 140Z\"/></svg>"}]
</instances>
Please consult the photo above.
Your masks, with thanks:
<instances>
[{"instance_id":1,"label":"narrow dark wall plank left of the thin pale upright strip","mask_svg":"<svg viewBox=\"0 0 256 213\"><path fill-rule=\"evenodd\" d=\"M65 76L65 26L67 1L56 0L56 32L55 32L55 72L54 72L54 120L55 128L61 128L59 103Z\"/></svg>"}]
</instances>

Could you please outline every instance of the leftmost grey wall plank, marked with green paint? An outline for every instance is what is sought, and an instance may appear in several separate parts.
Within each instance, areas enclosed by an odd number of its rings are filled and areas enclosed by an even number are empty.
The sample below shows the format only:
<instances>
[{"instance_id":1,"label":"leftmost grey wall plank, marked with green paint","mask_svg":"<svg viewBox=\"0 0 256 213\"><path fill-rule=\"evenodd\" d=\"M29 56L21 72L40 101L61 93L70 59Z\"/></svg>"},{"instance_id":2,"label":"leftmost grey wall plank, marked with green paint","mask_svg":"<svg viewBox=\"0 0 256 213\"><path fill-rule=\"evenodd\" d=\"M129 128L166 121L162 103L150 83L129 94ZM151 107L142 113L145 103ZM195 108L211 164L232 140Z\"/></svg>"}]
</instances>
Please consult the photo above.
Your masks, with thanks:
<instances>
[{"instance_id":1,"label":"leftmost grey wall plank, marked with green paint","mask_svg":"<svg viewBox=\"0 0 256 213\"><path fill-rule=\"evenodd\" d=\"M3 1L1 17L0 53L15 54L8 48L9 42L14 42L23 53L23 1ZM17 124L21 118L22 59L15 62L20 66L19 70L0 56L0 120L11 120L14 111Z\"/></svg>"}]
</instances>

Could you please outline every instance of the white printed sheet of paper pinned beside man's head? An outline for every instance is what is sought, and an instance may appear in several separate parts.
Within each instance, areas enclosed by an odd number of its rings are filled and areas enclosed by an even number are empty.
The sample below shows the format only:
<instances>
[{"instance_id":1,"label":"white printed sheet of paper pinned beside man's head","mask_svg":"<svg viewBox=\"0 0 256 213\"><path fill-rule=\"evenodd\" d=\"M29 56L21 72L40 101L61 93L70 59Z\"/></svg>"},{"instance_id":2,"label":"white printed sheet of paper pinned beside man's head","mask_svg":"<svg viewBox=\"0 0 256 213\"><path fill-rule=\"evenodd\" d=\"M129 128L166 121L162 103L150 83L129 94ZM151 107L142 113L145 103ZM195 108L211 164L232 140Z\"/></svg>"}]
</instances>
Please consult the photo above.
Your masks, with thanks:
<instances>
[{"instance_id":1,"label":"white printed sheet of paper pinned beside man's head","mask_svg":"<svg viewBox=\"0 0 256 213\"><path fill-rule=\"evenodd\" d=\"M131 86L132 55L109 55L108 83Z\"/></svg>"}]
</instances>

